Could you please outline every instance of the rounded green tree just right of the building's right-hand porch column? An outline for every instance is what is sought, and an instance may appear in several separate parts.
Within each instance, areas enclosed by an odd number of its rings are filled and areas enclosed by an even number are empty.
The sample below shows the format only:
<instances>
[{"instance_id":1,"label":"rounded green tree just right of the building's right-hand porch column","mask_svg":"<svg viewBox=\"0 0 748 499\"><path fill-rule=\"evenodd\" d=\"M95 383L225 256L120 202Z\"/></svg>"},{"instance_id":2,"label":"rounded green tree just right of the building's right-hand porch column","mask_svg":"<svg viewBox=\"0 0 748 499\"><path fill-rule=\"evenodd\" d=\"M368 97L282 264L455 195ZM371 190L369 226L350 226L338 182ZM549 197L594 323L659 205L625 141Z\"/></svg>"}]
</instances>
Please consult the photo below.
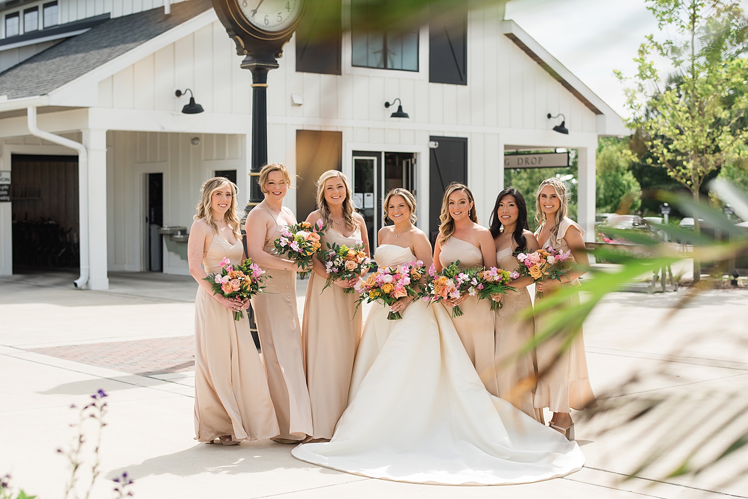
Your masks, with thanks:
<instances>
[{"instance_id":1,"label":"rounded green tree just right of the building's right-hand porch column","mask_svg":"<svg viewBox=\"0 0 748 499\"><path fill-rule=\"evenodd\" d=\"M631 160L623 151L625 139L601 138L596 156L598 212L628 213L642 204L642 188L631 172Z\"/></svg>"}]
</instances>

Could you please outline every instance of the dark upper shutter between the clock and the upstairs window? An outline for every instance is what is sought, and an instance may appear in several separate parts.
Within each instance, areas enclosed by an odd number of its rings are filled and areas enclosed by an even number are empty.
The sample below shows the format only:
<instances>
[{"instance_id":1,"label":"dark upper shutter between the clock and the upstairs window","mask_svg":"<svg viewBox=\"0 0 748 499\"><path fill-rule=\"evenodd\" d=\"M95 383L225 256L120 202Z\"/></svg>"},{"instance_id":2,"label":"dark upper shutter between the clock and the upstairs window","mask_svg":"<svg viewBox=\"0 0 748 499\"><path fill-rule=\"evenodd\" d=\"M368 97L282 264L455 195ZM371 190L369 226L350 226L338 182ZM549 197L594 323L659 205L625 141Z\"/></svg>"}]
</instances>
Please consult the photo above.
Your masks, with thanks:
<instances>
[{"instance_id":1,"label":"dark upper shutter between the clock and the upstairs window","mask_svg":"<svg viewBox=\"0 0 748 499\"><path fill-rule=\"evenodd\" d=\"M296 28L296 70L340 75L340 1L310 1Z\"/></svg>"}]
</instances>

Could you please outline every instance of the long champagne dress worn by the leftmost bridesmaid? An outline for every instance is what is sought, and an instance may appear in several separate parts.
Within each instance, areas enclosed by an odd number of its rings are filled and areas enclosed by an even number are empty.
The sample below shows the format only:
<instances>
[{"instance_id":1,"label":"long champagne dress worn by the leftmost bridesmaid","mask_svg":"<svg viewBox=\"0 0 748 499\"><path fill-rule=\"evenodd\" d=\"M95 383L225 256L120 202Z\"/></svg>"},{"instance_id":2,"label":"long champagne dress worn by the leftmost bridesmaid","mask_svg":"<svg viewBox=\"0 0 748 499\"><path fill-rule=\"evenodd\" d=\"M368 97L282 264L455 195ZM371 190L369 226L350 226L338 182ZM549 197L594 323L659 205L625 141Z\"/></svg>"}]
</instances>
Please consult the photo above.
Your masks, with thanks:
<instances>
[{"instance_id":1,"label":"long champagne dress worn by the leftmost bridesmaid","mask_svg":"<svg viewBox=\"0 0 748 499\"><path fill-rule=\"evenodd\" d=\"M216 235L203 255L203 269L221 271L221 260L242 260L242 242L230 245ZM249 329L233 311L202 287L194 299L195 440L212 442L221 435L255 440L278 435L278 421L265 370Z\"/></svg>"}]
</instances>

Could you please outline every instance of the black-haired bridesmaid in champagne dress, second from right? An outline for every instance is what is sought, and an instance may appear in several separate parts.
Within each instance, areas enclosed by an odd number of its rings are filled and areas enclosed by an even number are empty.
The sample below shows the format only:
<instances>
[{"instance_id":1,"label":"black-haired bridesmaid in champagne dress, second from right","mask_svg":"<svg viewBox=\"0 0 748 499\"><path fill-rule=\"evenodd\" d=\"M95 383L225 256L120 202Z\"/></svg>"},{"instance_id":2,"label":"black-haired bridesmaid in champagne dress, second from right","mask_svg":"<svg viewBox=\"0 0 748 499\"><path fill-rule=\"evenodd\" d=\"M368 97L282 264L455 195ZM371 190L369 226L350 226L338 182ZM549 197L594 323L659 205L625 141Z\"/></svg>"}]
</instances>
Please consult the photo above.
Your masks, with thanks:
<instances>
[{"instance_id":1,"label":"black-haired bridesmaid in champagne dress, second from right","mask_svg":"<svg viewBox=\"0 0 748 499\"><path fill-rule=\"evenodd\" d=\"M517 189L504 189L496 198L494 212L491 213L491 236L496 245L496 261L504 270L515 270L518 266L517 251L535 251L539 248L533 233L527 230L527 206ZM532 278L519 278L512 281L516 292L496 298L502 307L494 312L494 334L496 341L496 375L499 397L512 402L516 408L543 423L543 411L533 407L533 394L538 374L534 350L518 355L527 342L533 340L535 320L521 319L522 310L532 310L527 286ZM530 386L521 386L530 382Z\"/></svg>"}]
</instances>

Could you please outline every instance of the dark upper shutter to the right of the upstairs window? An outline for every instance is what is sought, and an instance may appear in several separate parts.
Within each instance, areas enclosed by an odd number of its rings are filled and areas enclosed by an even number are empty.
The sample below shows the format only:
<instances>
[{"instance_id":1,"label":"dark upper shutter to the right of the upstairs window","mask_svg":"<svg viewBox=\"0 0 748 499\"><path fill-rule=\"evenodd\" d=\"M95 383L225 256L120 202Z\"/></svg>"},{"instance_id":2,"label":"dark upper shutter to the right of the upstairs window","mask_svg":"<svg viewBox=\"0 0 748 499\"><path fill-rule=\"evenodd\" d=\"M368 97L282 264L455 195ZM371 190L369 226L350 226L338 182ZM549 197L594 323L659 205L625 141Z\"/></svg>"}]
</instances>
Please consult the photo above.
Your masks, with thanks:
<instances>
[{"instance_id":1,"label":"dark upper shutter to the right of the upstairs window","mask_svg":"<svg viewBox=\"0 0 748 499\"><path fill-rule=\"evenodd\" d=\"M429 22L429 82L468 85L468 13Z\"/></svg>"}]
</instances>

